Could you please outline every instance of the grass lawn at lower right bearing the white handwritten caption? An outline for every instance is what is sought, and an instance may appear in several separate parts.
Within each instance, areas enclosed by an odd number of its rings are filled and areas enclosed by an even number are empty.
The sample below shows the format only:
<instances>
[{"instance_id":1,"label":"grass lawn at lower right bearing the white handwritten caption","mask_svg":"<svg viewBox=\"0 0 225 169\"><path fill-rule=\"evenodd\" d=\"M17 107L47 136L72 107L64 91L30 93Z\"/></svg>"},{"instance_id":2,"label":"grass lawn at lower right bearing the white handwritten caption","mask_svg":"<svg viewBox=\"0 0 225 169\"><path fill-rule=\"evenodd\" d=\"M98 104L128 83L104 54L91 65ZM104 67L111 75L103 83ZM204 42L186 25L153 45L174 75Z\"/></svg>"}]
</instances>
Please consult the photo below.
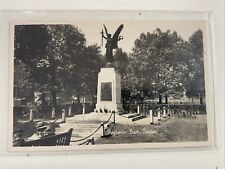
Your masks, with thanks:
<instances>
[{"instance_id":1,"label":"grass lawn at lower right bearing the white handwritten caption","mask_svg":"<svg viewBox=\"0 0 225 169\"><path fill-rule=\"evenodd\" d=\"M161 125L113 124L112 136L100 138L95 144L143 142L207 141L205 115L197 118L170 118Z\"/></svg>"}]
</instances>

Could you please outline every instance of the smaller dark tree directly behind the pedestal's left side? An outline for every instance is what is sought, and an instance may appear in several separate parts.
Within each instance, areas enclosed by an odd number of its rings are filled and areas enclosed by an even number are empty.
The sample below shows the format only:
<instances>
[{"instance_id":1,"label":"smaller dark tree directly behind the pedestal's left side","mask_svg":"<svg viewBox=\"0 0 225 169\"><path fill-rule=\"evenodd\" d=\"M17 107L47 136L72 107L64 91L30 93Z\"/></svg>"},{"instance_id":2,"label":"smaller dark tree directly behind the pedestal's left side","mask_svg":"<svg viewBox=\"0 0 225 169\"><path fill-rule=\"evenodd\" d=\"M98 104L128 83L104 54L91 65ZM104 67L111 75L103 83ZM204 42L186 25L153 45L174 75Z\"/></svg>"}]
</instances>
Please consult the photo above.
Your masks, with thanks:
<instances>
[{"instance_id":1,"label":"smaller dark tree directly behind the pedestal's left side","mask_svg":"<svg viewBox=\"0 0 225 169\"><path fill-rule=\"evenodd\" d=\"M79 58L72 62L66 71L68 76L65 76L68 89L72 89L68 91L76 95L78 100L80 95L89 95L94 100L94 95L97 93L98 72L103 66L100 47L96 44L87 46Z\"/></svg>"}]
</instances>

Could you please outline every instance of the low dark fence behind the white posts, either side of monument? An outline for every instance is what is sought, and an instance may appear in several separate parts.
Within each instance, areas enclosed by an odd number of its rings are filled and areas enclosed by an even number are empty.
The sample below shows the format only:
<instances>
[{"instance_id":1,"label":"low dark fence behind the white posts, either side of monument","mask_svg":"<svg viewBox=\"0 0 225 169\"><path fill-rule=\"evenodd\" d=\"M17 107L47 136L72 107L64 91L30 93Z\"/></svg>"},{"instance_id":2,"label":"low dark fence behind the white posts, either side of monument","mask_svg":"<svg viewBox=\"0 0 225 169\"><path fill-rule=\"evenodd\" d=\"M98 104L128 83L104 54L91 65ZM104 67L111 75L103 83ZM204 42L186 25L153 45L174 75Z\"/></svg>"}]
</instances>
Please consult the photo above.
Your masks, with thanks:
<instances>
[{"instance_id":1,"label":"low dark fence behind the white posts, either side of monument","mask_svg":"<svg viewBox=\"0 0 225 169\"><path fill-rule=\"evenodd\" d=\"M173 114L206 114L206 105L200 104L124 104L124 110L128 113L140 113L143 115L149 115L149 110L153 111L153 114L157 113L157 109L163 110L166 108L173 112ZM29 119L30 109L33 109L33 118L51 118L53 107L32 107L32 106L15 106L13 109L14 118ZM60 118L62 116L62 110L65 110L67 116L74 116L76 114L90 113L95 108L94 104L65 104L58 105L54 108L54 118ZM70 111L70 112L69 112Z\"/></svg>"}]
</instances>

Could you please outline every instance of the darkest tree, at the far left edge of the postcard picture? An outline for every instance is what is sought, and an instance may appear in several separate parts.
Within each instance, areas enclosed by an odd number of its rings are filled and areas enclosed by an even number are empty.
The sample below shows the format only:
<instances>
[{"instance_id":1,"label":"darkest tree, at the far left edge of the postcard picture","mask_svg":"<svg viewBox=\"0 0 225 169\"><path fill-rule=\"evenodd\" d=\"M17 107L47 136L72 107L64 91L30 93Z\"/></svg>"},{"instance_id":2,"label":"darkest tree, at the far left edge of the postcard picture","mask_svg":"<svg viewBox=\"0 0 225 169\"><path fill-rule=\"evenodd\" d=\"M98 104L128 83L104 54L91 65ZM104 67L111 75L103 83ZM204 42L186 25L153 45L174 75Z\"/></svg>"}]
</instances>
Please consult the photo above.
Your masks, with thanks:
<instances>
[{"instance_id":1,"label":"darkest tree, at the far left edge of the postcard picture","mask_svg":"<svg viewBox=\"0 0 225 169\"><path fill-rule=\"evenodd\" d=\"M49 39L50 36L45 25L15 26L14 65L15 68L23 65L23 70L27 72L27 75L25 76L20 69L20 71L15 72L14 77L17 79L23 76L20 79L24 79L26 83L20 84L20 86L23 88L26 86L26 89L30 88L31 93L37 90L37 84L48 81L47 74L43 73L48 70L46 67L40 69L39 65L45 62L43 58L48 53Z\"/></svg>"}]
</instances>

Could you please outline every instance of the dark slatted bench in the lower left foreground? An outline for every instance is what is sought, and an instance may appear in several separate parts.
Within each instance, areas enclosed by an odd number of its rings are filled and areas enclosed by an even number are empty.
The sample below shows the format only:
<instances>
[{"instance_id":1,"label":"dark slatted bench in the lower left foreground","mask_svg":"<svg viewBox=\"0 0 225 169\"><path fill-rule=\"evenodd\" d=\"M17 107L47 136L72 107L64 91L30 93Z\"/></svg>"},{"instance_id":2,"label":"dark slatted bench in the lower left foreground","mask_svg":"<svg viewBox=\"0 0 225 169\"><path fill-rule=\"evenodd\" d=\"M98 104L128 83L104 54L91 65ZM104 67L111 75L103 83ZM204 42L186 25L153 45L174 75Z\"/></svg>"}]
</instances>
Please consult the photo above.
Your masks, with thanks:
<instances>
[{"instance_id":1,"label":"dark slatted bench in the lower left foreground","mask_svg":"<svg viewBox=\"0 0 225 169\"><path fill-rule=\"evenodd\" d=\"M24 142L21 146L67 146L70 144L70 139L73 129L69 129L68 132L57 134L53 136L47 136L38 140L31 140Z\"/></svg>"}]
</instances>

